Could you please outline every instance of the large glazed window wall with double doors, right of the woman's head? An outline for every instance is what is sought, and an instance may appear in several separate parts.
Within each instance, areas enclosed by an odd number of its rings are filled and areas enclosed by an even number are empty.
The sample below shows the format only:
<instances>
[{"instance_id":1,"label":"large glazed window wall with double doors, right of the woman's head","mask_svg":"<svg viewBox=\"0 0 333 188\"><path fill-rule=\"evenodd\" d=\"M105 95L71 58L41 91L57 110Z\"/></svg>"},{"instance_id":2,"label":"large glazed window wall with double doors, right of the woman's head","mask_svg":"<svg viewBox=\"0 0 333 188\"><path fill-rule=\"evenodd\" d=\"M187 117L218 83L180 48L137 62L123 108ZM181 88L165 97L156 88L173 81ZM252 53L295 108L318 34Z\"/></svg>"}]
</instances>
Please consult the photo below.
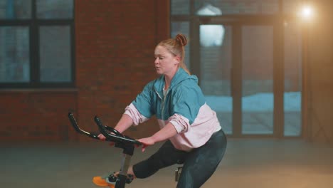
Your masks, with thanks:
<instances>
[{"instance_id":1,"label":"large glazed window wall with double doors, right of the woman's head","mask_svg":"<svg viewBox=\"0 0 333 188\"><path fill-rule=\"evenodd\" d=\"M186 65L226 134L300 137L303 42L296 18L304 2L170 3L171 36L189 38Z\"/></svg>"}]
</instances>

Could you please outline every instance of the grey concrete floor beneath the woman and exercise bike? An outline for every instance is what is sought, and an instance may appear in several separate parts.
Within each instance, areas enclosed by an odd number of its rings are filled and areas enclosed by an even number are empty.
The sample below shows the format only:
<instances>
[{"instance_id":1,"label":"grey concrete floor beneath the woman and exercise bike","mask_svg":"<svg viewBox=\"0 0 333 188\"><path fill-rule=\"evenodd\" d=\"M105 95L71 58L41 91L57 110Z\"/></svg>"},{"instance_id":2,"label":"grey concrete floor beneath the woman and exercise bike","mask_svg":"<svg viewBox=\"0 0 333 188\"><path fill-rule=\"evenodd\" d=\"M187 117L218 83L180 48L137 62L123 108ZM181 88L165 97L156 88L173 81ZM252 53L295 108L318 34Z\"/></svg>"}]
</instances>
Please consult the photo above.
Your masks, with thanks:
<instances>
[{"instance_id":1,"label":"grey concrete floor beneath the woman and exercise bike","mask_svg":"<svg viewBox=\"0 0 333 188\"><path fill-rule=\"evenodd\" d=\"M93 176L120 168L121 150L106 142L1 142L0 182L6 188L95 187ZM159 145L132 163L152 154ZM174 169L160 170L127 187L176 187ZM215 187L333 187L333 148L303 140L229 139L226 155L213 177L203 185Z\"/></svg>"}]
</instances>

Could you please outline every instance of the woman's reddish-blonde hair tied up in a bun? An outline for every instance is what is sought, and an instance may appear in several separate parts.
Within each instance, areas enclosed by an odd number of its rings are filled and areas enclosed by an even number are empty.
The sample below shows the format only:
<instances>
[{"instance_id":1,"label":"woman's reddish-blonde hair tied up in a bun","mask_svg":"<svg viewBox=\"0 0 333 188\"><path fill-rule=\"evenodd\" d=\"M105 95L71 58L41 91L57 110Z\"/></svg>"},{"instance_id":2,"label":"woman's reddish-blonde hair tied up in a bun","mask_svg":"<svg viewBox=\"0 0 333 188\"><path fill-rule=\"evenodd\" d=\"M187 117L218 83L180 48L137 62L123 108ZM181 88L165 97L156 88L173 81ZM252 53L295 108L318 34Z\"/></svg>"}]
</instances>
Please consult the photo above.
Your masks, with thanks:
<instances>
[{"instance_id":1,"label":"woman's reddish-blonde hair tied up in a bun","mask_svg":"<svg viewBox=\"0 0 333 188\"><path fill-rule=\"evenodd\" d=\"M175 38L168 38L164 41L161 41L157 46L163 46L170 53L174 54L174 56L180 57L179 67L183 68L186 73L191 75L189 69L186 67L184 63L185 58L185 46L187 44L187 38L183 34L179 33Z\"/></svg>"}]
</instances>

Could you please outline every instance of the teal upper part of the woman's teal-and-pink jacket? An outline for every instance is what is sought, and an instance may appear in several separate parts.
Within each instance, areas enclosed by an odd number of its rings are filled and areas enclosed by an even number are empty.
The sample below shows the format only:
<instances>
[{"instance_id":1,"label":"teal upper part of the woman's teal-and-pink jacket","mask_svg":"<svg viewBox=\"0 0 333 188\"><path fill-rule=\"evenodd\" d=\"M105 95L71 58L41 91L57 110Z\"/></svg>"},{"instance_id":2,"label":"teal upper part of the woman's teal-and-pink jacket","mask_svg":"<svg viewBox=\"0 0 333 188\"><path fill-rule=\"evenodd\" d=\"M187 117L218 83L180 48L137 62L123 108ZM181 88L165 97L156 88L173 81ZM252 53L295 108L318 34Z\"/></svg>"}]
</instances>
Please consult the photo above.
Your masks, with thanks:
<instances>
[{"instance_id":1,"label":"teal upper part of the woman's teal-and-pink jacket","mask_svg":"<svg viewBox=\"0 0 333 188\"><path fill-rule=\"evenodd\" d=\"M189 75L183 68L179 68L166 96L163 95L163 88L164 75L161 75L144 86L142 93L132 102L133 105L144 117L156 115L159 120L168 120L178 114L189 119L191 125L201 106L206 103L196 75Z\"/></svg>"}]
</instances>

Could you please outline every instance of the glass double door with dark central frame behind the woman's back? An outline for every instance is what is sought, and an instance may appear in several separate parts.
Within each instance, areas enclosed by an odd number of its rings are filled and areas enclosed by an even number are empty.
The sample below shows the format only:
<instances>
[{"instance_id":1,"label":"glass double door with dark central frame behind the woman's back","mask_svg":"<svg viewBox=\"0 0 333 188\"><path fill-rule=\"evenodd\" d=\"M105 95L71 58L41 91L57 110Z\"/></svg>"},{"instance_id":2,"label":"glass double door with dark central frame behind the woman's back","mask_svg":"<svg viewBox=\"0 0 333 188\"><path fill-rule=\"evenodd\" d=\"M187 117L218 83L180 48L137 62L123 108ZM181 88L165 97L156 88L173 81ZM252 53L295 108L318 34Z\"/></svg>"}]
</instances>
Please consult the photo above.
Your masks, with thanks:
<instances>
[{"instance_id":1,"label":"glass double door with dark central frame behind the woman's back","mask_svg":"<svg viewBox=\"0 0 333 188\"><path fill-rule=\"evenodd\" d=\"M201 88L228 135L273 135L273 26L201 24Z\"/></svg>"}]
</instances>

